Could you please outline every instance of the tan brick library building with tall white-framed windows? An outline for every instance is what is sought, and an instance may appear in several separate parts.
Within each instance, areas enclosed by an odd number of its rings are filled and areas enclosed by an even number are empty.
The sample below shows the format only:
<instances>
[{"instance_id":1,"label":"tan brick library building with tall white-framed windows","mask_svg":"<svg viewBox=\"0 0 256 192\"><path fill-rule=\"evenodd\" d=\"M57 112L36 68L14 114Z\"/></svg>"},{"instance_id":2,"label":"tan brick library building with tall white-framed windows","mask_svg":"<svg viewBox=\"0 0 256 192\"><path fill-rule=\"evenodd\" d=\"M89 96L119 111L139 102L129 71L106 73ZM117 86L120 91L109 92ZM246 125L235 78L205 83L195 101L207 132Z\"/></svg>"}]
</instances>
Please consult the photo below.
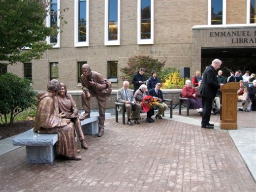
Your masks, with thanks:
<instances>
[{"instance_id":1,"label":"tan brick library building with tall white-framed windows","mask_svg":"<svg viewBox=\"0 0 256 192\"><path fill-rule=\"evenodd\" d=\"M150 55L165 67L204 71L215 58L231 70L256 72L256 0L52 0L67 24L40 60L8 65L7 71L32 79L46 90L58 78L68 90L81 90L81 65L122 87L120 68L128 57ZM50 26L53 18L47 18ZM57 19L57 18L55 18ZM151 69L147 69L150 70ZM228 72L224 71L227 76Z\"/></svg>"}]
</instances>

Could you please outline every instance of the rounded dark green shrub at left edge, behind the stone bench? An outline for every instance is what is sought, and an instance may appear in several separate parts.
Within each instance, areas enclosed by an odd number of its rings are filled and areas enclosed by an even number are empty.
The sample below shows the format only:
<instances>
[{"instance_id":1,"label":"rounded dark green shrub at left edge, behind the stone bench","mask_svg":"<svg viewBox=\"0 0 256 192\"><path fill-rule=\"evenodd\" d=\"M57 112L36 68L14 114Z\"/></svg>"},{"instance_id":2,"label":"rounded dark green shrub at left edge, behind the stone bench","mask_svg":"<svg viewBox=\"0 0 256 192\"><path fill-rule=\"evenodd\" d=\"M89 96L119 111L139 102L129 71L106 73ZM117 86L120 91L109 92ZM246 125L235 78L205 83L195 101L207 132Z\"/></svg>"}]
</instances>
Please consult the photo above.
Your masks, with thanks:
<instances>
[{"instance_id":1,"label":"rounded dark green shrub at left edge, behind the stone bench","mask_svg":"<svg viewBox=\"0 0 256 192\"><path fill-rule=\"evenodd\" d=\"M35 106L36 93L30 82L29 79L20 78L12 73L0 76L0 125L7 124L8 114L11 125L17 114Z\"/></svg>"}]
</instances>

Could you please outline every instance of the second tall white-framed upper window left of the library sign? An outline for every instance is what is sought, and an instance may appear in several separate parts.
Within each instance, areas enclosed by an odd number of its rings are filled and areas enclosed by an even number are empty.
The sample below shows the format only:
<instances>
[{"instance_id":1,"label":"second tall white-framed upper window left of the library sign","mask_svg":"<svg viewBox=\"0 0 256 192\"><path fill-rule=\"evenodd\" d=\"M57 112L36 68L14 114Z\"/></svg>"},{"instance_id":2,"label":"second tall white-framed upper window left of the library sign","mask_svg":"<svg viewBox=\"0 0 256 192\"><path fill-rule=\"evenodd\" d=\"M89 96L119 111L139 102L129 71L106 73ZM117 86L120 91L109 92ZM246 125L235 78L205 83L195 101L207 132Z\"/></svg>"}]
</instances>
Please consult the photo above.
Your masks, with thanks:
<instances>
[{"instance_id":1,"label":"second tall white-framed upper window left of the library sign","mask_svg":"<svg viewBox=\"0 0 256 192\"><path fill-rule=\"evenodd\" d=\"M105 0L105 45L120 45L120 0Z\"/></svg>"}]
</instances>

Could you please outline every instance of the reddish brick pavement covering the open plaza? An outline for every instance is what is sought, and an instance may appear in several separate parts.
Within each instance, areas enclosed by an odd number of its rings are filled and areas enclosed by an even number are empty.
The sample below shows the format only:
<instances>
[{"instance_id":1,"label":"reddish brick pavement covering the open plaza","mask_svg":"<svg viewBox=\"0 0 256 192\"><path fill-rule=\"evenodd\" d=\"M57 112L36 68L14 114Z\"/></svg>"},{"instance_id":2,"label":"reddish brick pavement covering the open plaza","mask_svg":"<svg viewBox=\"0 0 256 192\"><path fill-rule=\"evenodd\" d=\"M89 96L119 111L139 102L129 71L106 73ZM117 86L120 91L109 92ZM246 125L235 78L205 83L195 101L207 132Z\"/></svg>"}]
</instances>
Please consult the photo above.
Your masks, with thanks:
<instances>
[{"instance_id":1,"label":"reddish brick pavement covering the open plaza","mask_svg":"<svg viewBox=\"0 0 256 192\"><path fill-rule=\"evenodd\" d=\"M90 149L81 150L80 161L27 164L25 147L4 154L0 191L256 191L226 130L170 119L146 124L144 117L141 122L128 126L107 119L103 137L86 135Z\"/></svg>"}]
</instances>

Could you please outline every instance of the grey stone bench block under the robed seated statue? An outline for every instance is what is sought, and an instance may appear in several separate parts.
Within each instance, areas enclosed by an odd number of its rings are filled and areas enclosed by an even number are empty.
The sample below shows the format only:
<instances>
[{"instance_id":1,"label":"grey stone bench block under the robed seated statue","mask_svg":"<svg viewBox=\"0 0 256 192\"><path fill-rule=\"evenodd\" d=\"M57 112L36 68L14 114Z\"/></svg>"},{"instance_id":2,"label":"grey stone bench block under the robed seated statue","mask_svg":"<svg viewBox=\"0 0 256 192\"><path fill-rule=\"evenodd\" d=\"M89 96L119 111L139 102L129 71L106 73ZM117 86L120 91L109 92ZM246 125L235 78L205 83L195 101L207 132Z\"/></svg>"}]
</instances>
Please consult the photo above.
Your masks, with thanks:
<instances>
[{"instance_id":1,"label":"grey stone bench block under the robed seated statue","mask_svg":"<svg viewBox=\"0 0 256 192\"><path fill-rule=\"evenodd\" d=\"M30 129L13 138L13 145L26 146L28 163L52 163L56 158L58 134L39 134Z\"/></svg>"}]
</instances>

